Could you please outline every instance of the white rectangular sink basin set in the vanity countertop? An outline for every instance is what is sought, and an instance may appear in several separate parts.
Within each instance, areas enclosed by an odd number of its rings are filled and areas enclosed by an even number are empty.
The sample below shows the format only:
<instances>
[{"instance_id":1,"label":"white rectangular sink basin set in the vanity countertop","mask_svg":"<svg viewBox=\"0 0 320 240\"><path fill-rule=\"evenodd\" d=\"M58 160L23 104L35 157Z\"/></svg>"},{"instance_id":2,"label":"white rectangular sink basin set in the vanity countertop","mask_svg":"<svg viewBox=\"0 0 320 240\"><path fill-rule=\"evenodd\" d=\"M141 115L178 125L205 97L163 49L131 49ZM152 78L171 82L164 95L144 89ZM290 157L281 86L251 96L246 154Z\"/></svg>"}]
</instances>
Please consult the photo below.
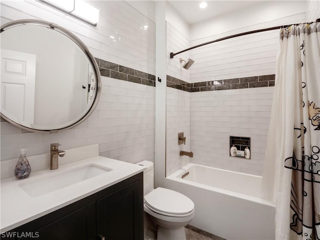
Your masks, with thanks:
<instances>
[{"instance_id":1,"label":"white rectangular sink basin set in the vanity countertop","mask_svg":"<svg viewBox=\"0 0 320 240\"><path fill-rule=\"evenodd\" d=\"M36 197L104 174L110 170L112 169L95 164L88 164L30 179L19 184L19 187L29 196Z\"/></svg>"}]
</instances>

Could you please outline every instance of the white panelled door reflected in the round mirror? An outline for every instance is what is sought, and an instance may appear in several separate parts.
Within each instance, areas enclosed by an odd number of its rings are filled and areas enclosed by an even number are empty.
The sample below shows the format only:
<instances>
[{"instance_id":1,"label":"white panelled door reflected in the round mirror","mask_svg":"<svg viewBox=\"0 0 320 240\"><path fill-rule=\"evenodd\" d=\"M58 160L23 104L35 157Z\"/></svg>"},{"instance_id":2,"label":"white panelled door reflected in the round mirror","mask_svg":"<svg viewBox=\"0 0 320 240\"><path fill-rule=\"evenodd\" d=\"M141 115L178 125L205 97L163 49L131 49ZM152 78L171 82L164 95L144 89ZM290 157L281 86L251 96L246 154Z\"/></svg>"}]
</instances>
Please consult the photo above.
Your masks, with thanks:
<instances>
[{"instance_id":1,"label":"white panelled door reflected in the round mirror","mask_svg":"<svg viewBox=\"0 0 320 240\"><path fill-rule=\"evenodd\" d=\"M1 112L33 123L35 55L1 49Z\"/></svg>"}]
</instances>

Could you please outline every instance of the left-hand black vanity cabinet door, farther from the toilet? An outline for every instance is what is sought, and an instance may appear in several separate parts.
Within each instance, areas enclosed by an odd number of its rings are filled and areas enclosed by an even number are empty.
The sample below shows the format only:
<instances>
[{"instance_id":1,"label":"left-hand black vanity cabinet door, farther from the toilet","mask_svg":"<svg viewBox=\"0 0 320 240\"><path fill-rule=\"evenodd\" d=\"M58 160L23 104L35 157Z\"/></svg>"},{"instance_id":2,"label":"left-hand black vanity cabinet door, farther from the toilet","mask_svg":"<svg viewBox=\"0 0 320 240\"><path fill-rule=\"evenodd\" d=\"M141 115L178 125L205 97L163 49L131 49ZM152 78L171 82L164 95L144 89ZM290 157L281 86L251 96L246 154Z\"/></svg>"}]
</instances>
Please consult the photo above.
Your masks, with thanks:
<instances>
[{"instance_id":1,"label":"left-hand black vanity cabinet door, farther from the toilet","mask_svg":"<svg viewBox=\"0 0 320 240\"><path fill-rule=\"evenodd\" d=\"M95 203L39 228L32 232L32 235L36 237L35 239L41 240L95 240ZM22 237L19 239L31 238Z\"/></svg>"}]
</instances>

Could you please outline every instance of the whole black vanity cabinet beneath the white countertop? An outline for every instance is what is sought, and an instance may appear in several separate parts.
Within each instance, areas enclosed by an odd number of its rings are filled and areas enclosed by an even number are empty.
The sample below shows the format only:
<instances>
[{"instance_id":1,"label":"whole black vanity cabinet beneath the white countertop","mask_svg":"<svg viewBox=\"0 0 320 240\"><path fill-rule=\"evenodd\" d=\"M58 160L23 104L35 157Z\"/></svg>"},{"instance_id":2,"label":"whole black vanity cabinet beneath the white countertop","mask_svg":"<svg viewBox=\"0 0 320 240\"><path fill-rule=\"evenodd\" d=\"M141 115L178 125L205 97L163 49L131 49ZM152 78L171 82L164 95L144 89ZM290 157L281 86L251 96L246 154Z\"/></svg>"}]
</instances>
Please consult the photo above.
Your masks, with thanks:
<instances>
[{"instance_id":1,"label":"whole black vanity cabinet beneath the white countertop","mask_svg":"<svg viewBox=\"0 0 320 240\"><path fill-rule=\"evenodd\" d=\"M1 239L142 240L143 172L2 233Z\"/></svg>"}]
</instances>

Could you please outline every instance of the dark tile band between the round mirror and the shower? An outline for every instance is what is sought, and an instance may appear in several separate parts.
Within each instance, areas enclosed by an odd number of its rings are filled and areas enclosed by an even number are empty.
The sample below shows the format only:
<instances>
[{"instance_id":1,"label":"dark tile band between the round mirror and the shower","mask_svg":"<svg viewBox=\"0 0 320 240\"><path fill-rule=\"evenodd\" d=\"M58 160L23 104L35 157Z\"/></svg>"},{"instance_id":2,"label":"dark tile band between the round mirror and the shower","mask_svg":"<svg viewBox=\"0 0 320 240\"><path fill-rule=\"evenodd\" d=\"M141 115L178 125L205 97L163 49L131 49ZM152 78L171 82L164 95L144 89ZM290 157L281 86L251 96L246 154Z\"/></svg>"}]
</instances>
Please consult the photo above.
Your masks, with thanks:
<instances>
[{"instance_id":1,"label":"dark tile band between the round mirror and the shower","mask_svg":"<svg viewBox=\"0 0 320 240\"><path fill-rule=\"evenodd\" d=\"M108 76L124 81L131 81L148 86L155 86L155 75L138 71L133 68L121 66L119 64L95 58L101 76Z\"/></svg>"}]
</instances>

